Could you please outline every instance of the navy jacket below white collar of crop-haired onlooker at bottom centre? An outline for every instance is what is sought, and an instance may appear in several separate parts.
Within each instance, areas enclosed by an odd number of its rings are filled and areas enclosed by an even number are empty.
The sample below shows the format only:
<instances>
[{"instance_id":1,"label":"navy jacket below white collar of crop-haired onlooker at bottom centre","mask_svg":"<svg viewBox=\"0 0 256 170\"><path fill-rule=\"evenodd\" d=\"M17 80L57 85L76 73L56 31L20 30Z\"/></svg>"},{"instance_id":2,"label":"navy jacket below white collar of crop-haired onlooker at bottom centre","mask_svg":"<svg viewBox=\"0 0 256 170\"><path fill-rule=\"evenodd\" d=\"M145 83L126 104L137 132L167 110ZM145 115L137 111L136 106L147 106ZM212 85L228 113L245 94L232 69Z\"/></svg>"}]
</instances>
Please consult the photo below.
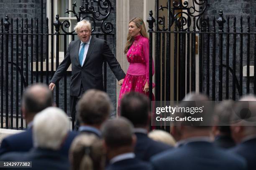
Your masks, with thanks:
<instances>
[{"instance_id":1,"label":"navy jacket below white collar of crop-haired onlooker at bottom centre","mask_svg":"<svg viewBox=\"0 0 256 170\"><path fill-rule=\"evenodd\" d=\"M152 166L146 162L132 158L110 164L106 170L152 170Z\"/></svg>"}]
</instances>

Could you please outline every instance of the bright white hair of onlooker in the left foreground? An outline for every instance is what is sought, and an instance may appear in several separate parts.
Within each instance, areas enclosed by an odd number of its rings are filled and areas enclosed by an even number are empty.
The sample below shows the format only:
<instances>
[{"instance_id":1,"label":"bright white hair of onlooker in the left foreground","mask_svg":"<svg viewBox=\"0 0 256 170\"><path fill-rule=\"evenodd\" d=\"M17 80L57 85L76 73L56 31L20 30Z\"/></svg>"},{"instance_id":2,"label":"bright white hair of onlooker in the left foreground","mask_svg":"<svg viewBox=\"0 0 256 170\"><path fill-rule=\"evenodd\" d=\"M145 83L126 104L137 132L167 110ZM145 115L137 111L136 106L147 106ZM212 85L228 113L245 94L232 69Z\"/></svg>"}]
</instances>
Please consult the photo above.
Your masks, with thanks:
<instances>
[{"instance_id":1,"label":"bright white hair of onlooker in the left foreground","mask_svg":"<svg viewBox=\"0 0 256 170\"><path fill-rule=\"evenodd\" d=\"M58 150L69 131L66 113L58 107L48 107L33 119L33 146Z\"/></svg>"}]
</instances>

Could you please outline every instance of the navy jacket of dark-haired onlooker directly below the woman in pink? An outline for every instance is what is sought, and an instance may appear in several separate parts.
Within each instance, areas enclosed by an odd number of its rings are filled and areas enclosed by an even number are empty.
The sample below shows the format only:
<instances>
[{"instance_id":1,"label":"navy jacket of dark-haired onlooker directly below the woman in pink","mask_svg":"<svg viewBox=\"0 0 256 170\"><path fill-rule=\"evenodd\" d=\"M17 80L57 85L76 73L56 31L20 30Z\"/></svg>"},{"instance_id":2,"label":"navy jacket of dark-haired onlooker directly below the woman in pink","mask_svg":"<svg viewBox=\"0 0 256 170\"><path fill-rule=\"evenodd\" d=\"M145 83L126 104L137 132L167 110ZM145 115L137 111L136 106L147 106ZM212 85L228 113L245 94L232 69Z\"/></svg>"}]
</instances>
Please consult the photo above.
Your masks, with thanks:
<instances>
[{"instance_id":1,"label":"navy jacket of dark-haired onlooker directly below the woman in pink","mask_svg":"<svg viewBox=\"0 0 256 170\"><path fill-rule=\"evenodd\" d=\"M136 158L140 160L149 161L151 156L172 148L169 145L148 138L148 135L145 133L135 133L135 135L137 143L134 153Z\"/></svg>"}]
</instances>

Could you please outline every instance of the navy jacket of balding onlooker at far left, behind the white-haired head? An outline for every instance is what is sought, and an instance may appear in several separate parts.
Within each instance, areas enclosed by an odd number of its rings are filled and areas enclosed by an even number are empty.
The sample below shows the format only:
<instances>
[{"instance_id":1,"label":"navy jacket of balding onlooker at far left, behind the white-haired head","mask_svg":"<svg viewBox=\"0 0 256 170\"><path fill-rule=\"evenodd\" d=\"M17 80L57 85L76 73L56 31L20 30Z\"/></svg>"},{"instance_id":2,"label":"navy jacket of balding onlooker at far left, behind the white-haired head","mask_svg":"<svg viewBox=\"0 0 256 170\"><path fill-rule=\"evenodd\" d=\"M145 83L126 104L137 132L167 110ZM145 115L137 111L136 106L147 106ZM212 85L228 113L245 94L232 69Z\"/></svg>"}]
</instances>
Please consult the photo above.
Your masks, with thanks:
<instances>
[{"instance_id":1,"label":"navy jacket of balding onlooker at far left, behind the white-haired head","mask_svg":"<svg viewBox=\"0 0 256 170\"><path fill-rule=\"evenodd\" d=\"M77 133L70 132L59 152L68 156L69 147ZM8 152L27 152L33 147L32 129L10 135L2 140L0 155Z\"/></svg>"}]
</instances>

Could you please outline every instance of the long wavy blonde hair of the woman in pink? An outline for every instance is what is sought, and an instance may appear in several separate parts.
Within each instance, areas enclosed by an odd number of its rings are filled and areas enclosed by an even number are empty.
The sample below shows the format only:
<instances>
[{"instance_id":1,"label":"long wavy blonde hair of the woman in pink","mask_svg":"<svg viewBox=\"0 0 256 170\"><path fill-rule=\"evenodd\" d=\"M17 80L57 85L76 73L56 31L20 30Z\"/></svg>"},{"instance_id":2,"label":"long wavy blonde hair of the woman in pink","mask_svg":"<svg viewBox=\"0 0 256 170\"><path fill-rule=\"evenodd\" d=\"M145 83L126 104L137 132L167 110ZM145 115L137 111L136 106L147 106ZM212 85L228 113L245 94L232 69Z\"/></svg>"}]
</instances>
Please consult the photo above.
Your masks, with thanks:
<instances>
[{"instance_id":1,"label":"long wavy blonde hair of the woman in pink","mask_svg":"<svg viewBox=\"0 0 256 170\"><path fill-rule=\"evenodd\" d=\"M139 18L139 17L136 17L136 18L133 18L129 21L129 24L133 22L135 23L136 27L138 28L141 28L141 35L143 37L146 37L148 38L148 34L147 34L147 31L146 31L146 26L145 26L145 23L144 21ZM125 45L125 49L124 49L124 53L126 54L127 51L129 50L129 48L131 47L131 45L133 44L133 41L134 41L134 37L131 36L131 34L128 32L128 35L127 35L127 42L126 42L126 45Z\"/></svg>"}]
</instances>

